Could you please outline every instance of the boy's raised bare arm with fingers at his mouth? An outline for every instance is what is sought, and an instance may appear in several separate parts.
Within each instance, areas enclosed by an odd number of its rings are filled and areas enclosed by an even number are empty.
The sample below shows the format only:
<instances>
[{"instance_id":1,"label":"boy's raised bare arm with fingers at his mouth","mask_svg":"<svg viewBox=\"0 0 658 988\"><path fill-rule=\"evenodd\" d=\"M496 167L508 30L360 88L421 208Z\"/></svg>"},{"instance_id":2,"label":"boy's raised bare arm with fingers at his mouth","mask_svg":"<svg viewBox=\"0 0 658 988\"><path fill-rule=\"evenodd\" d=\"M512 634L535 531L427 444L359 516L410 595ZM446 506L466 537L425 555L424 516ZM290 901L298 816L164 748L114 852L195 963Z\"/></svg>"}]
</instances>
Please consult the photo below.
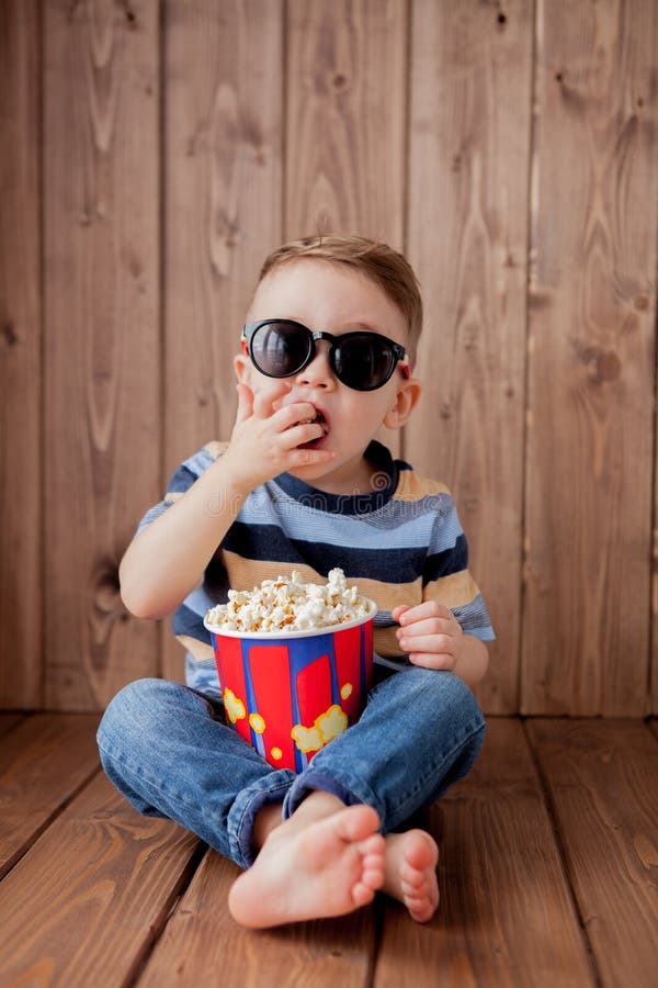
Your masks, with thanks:
<instances>
[{"instance_id":1,"label":"boy's raised bare arm with fingers at his mouth","mask_svg":"<svg viewBox=\"0 0 658 988\"><path fill-rule=\"evenodd\" d=\"M322 428L313 422L299 425L315 417L306 402L275 409L288 391L288 383L276 381L254 397L238 384L238 414L226 452L134 539L121 562L121 595L134 615L161 618L185 599L260 483L332 459L328 450L297 449L317 439Z\"/></svg>"}]
</instances>

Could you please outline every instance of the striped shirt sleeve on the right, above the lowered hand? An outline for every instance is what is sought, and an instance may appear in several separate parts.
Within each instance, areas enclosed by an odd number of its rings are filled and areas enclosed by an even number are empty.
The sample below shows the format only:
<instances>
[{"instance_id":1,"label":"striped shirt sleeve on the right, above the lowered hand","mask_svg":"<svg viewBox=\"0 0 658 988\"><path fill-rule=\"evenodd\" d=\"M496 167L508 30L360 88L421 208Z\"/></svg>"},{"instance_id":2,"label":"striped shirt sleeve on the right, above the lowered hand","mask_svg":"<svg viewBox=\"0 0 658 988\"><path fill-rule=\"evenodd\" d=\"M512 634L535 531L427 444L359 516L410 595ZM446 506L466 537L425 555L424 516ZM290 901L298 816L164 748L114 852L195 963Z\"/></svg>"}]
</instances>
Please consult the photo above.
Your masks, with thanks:
<instances>
[{"instance_id":1,"label":"striped shirt sleeve on the right, above the lowered hand","mask_svg":"<svg viewBox=\"0 0 658 988\"><path fill-rule=\"evenodd\" d=\"M423 600L450 607L463 630L481 641L496 633L483 595L468 572L468 543L454 498L442 499L432 529L422 574Z\"/></svg>"}]
</instances>

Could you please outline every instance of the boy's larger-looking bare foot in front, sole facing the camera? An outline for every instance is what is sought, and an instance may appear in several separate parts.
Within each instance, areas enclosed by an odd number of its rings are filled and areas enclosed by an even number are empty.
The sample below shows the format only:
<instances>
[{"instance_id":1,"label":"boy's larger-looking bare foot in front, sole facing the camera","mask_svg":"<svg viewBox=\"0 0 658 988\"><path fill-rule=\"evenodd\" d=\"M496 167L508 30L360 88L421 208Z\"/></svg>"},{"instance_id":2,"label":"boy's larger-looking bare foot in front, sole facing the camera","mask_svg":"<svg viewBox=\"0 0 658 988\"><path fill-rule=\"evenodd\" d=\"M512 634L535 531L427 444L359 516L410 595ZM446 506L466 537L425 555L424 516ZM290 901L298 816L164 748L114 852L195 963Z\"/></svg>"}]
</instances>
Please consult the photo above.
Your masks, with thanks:
<instances>
[{"instance_id":1,"label":"boy's larger-looking bare foot in front, sole facing the camera","mask_svg":"<svg viewBox=\"0 0 658 988\"><path fill-rule=\"evenodd\" d=\"M308 800L310 804L310 800ZM245 927L342 916L372 902L384 883L384 838L367 806L316 819L302 812L272 830L234 883L228 908Z\"/></svg>"}]
</instances>

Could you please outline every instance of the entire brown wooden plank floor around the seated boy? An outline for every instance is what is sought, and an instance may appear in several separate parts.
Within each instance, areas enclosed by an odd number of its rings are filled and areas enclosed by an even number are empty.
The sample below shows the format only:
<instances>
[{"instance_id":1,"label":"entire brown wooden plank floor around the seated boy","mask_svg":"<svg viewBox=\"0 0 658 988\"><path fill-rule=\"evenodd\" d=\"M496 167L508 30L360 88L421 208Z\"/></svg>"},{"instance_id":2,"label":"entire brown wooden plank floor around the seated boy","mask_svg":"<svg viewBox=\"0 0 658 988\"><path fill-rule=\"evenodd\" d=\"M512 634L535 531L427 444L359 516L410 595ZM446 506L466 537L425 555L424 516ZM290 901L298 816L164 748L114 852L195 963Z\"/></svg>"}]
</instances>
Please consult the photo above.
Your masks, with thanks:
<instances>
[{"instance_id":1,"label":"entire brown wooden plank floor around the seated boy","mask_svg":"<svg viewBox=\"0 0 658 988\"><path fill-rule=\"evenodd\" d=\"M0 715L2 988L658 984L655 723L490 718L475 771L429 815L431 923L382 896L251 932L225 906L235 865L115 794L97 722Z\"/></svg>"}]
</instances>

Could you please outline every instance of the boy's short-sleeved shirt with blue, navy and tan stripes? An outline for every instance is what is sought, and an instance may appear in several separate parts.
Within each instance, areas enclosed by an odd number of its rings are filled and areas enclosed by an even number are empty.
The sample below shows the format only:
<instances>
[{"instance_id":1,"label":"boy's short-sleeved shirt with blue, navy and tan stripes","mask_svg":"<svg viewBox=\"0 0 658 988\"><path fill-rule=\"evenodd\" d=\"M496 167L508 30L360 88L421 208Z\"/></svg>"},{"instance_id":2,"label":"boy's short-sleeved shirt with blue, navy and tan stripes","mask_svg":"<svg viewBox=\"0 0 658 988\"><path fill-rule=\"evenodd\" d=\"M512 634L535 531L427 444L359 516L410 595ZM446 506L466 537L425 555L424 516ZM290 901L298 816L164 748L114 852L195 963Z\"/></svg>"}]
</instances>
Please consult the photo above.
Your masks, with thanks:
<instances>
[{"instance_id":1,"label":"boy's short-sleeved shirt with blue, navy and tan stripes","mask_svg":"<svg viewBox=\"0 0 658 988\"><path fill-rule=\"evenodd\" d=\"M164 498L144 516L137 536L226 446L209 442L174 471ZM384 665L408 663L390 617L399 604L440 600L468 635L483 641L495 638L468 572L466 537L447 487L416 473L404 460L394 460L379 442L371 442L365 456L377 471L372 493L328 494L283 473L247 497L198 586L173 616L174 635L186 650L189 686L219 694L209 635L203 627L206 610L226 602L229 588L251 590L263 580L290 575L293 569L305 582L324 583L329 571L340 566L361 594L376 600L375 653Z\"/></svg>"}]
</instances>

